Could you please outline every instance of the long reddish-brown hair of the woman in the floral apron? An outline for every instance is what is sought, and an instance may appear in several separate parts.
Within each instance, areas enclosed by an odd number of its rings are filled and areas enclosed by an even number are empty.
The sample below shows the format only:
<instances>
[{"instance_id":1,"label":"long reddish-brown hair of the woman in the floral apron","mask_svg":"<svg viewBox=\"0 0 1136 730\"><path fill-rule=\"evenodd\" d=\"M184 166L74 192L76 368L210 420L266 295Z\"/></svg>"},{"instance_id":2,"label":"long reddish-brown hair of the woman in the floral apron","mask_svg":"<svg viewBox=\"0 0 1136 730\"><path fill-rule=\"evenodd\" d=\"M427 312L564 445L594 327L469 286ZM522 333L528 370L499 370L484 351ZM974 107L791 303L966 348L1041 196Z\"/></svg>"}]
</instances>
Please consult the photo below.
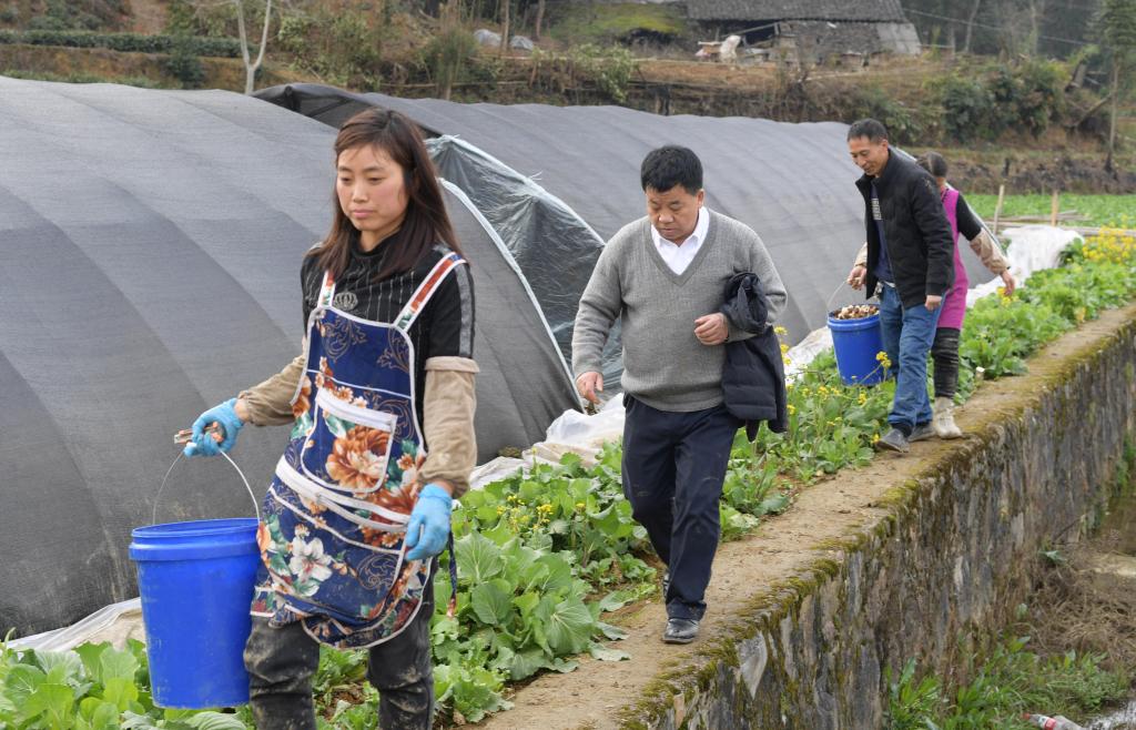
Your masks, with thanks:
<instances>
[{"instance_id":1,"label":"long reddish-brown hair of the woman in the floral apron","mask_svg":"<svg viewBox=\"0 0 1136 730\"><path fill-rule=\"evenodd\" d=\"M402 219L400 235L392 241L394 247L383 255L383 266L377 279L412 269L435 243L444 243L461 253L453 225L445 212L442 187L434 173L423 143L418 126L398 111L367 109L343 123L335 137L335 161L346 150L374 146L386 152L402 168L402 182L407 190L407 213ZM358 229L340 208L333 184L332 200L334 218L332 229L324 241L308 255L319 260L319 266L339 278L351 260L351 241ZM396 242L396 243L395 243Z\"/></svg>"}]
</instances>

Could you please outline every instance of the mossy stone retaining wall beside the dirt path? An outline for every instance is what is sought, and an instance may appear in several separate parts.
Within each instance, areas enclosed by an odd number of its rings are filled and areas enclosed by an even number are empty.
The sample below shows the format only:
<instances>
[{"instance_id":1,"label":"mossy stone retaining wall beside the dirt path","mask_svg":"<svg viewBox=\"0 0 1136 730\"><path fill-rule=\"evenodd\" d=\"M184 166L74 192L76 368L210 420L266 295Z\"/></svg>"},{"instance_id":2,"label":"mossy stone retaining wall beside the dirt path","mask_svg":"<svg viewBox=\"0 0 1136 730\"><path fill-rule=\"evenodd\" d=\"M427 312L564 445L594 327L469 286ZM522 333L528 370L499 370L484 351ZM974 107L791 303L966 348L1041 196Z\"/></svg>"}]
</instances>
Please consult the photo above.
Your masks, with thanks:
<instances>
[{"instance_id":1,"label":"mossy stone retaining wall beside the dirt path","mask_svg":"<svg viewBox=\"0 0 1136 730\"><path fill-rule=\"evenodd\" d=\"M1039 549L1091 527L1127 475L1134 313L1070 355L1035 358L1028 387L892 489L884 519L761 594L623 727L875 729L884 668L917 658L958 677L1027 598Z\"/></svg>"}]
</instances>

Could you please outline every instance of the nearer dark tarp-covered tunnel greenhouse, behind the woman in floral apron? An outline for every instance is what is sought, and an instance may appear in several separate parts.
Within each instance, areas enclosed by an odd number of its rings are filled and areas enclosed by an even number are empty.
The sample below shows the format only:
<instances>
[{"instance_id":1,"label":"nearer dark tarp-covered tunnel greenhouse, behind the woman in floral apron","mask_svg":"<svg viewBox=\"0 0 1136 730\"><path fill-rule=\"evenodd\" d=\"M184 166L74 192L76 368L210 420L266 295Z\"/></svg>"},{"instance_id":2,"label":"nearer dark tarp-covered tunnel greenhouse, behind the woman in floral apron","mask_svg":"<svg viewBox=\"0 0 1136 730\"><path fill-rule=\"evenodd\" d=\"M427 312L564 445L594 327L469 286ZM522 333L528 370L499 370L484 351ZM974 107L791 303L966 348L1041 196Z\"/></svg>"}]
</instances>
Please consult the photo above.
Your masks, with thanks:
<instances>
[{"instance_id":1,"label":"nearer dark tarp-covered tunnel greenhouse, behind the woman in floral apron","mask_svg":"<svg viewBox=\"0 0 1136 730\"><path fill-rule=\"evenodd\" d=\"M240 94L0 77L0 632L135 595L172 435L299 350L334 131ZM477 290L483 458L576 403L517 265L448 193ZM264 493L284 429L233 451ZM251 514L223 460L178 463L159 521Z\"/></svg>"}]
</instances>

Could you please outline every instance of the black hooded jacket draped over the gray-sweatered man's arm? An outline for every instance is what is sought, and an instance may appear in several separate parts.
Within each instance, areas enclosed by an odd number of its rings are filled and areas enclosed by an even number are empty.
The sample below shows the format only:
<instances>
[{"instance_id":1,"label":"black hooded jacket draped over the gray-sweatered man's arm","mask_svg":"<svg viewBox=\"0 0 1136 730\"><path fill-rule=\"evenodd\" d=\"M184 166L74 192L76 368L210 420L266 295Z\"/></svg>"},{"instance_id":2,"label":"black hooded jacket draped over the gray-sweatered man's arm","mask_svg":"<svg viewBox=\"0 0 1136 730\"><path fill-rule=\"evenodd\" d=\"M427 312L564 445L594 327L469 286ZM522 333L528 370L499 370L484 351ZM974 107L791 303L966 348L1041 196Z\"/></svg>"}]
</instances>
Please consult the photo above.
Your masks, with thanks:
<instances>
[{"instance_id":1,"label":"black hooded jacket draped over the gray-sweatered man's arm","mask_svg":"<svg viewBox=\"0 0 1136 730\"><path fill-rule=\"evenodd\" d=\"M771 431L784 431L788 427L785 364L777 335L766 324L768 303L758 276L735 274L726 285L726 302L720 311L734 328L753 335L726 343L721 372L726 410L745 421L751 440L760 421L768 422Z\"/></svg>"}]
</instances>

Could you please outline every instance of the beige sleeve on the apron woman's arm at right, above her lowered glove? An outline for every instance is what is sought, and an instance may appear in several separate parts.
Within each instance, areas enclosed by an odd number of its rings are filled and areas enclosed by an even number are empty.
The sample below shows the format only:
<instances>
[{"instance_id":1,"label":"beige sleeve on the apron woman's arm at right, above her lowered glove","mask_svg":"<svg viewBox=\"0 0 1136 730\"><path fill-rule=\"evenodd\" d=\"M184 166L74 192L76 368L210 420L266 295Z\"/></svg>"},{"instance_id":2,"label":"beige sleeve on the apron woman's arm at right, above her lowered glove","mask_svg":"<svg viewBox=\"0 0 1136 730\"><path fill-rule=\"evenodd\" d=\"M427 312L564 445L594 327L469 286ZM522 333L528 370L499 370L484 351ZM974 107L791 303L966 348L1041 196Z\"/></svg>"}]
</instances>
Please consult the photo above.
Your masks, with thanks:
<instances>
[{"instance_id":1,"label":"beige sleeve on the apron woman's arm at right, above her lowered glove","mask_svg":"<svg viewBox=\"0 0 1136 730\"><path fill-rule=\"evenodd\" d=\"M453 485L454 497L469 489L469 472L477 464L474 376L478 371L477 363L469 358L426 361L423 430L429 451L423 464L423 481L444 479Z\"/></svg>"}]
</instances>

